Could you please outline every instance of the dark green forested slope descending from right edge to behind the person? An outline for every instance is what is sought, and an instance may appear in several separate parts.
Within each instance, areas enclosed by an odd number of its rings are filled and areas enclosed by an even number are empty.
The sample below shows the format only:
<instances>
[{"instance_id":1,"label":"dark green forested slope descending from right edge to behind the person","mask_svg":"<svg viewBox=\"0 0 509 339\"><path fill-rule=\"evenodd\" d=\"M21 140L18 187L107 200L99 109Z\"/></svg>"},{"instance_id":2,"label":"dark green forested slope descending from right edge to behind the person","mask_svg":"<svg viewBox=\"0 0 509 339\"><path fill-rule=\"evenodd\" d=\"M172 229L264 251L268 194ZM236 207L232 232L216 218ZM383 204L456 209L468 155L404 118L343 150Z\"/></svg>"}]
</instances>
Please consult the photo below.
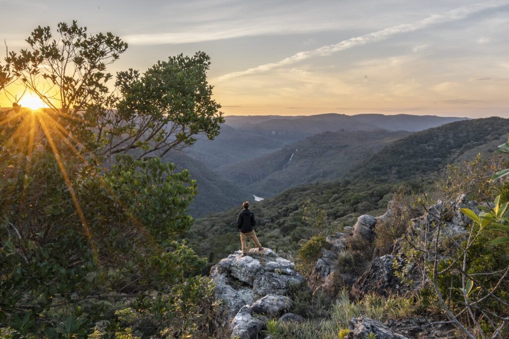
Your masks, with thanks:
<instances>
[{"instance_id":1,"label":"dark green forested slope descending from right edge to behind the person","mask_svg":"<svg viewBox=\"0 0 509 339\"><path fill-rule=\"evenodd\" d=\"M251 210L259 220L260 241L272 249L295 253L299 242L315 232L302 219L307 201L308 206L326 212L332 229L351 226L360 214L384 210L402 185L416 192L433 190L436 171L480 145L495 150L505 141L507 131L509 119L497 117L452 122L399 139L351 170L349 179L308 184L255 202ZM223 258L240 246L235 227L239 212L233 209L197 219L186 238L211 262Z\"/></svg>"}]
</instances>

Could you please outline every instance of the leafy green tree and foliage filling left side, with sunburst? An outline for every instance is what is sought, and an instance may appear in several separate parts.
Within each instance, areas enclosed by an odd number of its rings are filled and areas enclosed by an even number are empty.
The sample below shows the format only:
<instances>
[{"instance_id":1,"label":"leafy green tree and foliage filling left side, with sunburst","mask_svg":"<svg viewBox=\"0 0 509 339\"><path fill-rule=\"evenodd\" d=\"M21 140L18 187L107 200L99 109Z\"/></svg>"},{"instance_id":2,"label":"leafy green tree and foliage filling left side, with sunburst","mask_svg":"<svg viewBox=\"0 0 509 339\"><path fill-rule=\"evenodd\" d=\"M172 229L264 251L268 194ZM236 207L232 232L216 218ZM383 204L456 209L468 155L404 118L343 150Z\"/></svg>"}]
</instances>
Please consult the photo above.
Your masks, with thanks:
<instances>
[{"instance_id":1,"label":"leafy green tree and foliage filling left side, with sunburst","mask_svg":"<svg viewBox=\"0 0 509 339\"><path fill-rule=\"evenodd\" d=\"M196 182L157 157L218 135L209 56L169 57L112 83L125 42L76 21L57 32L37 27L0 63L13 99L0 110L0 334L129 333L123 314L172 337L209 333L206 260L178 241ZM21 107L23 93L46 107Z\"/></svg>"}]
</instances>

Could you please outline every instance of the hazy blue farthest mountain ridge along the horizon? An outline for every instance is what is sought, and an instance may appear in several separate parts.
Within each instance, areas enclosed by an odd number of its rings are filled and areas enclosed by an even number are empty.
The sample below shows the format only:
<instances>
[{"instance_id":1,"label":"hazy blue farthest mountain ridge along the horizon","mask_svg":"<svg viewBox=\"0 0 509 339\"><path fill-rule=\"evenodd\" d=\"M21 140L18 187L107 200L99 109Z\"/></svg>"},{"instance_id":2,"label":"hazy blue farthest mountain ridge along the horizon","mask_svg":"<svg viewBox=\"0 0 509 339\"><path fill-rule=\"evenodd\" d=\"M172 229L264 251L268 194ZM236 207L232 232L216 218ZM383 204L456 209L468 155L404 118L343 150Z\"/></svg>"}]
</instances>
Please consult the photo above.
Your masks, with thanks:
<instances>
[{"instance_id":1,"label":"hazy blue farthest mountain ridge along the horizon","mask_svg":"<svg viewBox=\"0 0 509 339\"><path fill-rule=\"evenodd\" d=\"M421 131L461 117L434 115L317 114L309 116L228 115L214 140L199 140L188 152L212 169L277 151L307 137L345 131Z\"/></svg>"}]
</instances>

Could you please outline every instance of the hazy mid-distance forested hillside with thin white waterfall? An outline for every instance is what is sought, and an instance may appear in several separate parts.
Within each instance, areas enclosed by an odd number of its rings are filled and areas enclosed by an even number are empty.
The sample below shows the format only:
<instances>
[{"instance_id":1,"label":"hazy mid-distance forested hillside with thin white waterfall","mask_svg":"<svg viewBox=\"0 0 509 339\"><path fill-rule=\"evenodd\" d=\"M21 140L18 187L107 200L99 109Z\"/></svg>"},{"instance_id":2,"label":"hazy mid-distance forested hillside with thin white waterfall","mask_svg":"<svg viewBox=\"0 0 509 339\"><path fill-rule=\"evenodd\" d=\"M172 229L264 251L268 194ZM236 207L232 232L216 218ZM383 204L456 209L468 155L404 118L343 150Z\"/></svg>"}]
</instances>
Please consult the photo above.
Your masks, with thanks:
<instances>
[{"instance_id":1,"label":"hazy mid-distance forested hillside with thin white waterfall","mask_svg":"<svg viewBox=\"0 0 509 339\"><path fill-rule=\"evenodd\" d=\"M257 196L271 197L307 183L339 180L366 157L408 134L385 130L325 132L217 171Z\"/></svg>"}]
</instances>

